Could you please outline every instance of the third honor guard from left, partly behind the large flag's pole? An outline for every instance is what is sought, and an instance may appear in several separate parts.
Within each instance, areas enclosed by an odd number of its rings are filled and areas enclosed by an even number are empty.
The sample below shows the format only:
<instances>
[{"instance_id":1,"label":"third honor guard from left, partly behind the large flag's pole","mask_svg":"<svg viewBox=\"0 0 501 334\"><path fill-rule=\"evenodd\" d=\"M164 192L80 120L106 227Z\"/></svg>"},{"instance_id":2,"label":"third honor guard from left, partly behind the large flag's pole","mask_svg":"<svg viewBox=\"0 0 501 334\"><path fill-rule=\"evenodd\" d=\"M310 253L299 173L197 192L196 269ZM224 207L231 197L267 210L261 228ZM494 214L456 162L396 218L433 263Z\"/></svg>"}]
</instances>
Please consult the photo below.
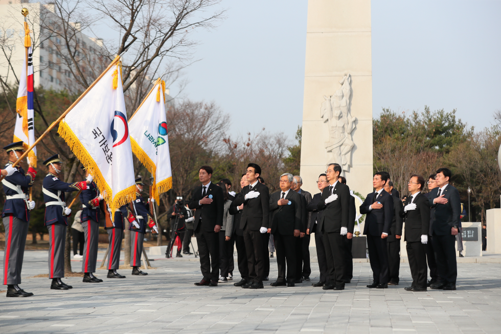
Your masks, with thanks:
<instances>
[{"instance_id":1,"label":"third honor guard from left, partly behind the large flag's pole","mask_svg":"<svg viewBox=\"0 0 501 334\"><path fill-rule=\"evenodd\" d=\"M85 170L85 167L82 166L82 169ZM85 176L89 176L86 170ZM80 221L85 234L82 258L84 283L99 283L103 281L93 275L96 272L96 262L98 260L99 202L103 199L103 196L98 196L98 192L96 183L92 181L80 193L80 202L82 202Z\"/></svg>"}]
</instances>

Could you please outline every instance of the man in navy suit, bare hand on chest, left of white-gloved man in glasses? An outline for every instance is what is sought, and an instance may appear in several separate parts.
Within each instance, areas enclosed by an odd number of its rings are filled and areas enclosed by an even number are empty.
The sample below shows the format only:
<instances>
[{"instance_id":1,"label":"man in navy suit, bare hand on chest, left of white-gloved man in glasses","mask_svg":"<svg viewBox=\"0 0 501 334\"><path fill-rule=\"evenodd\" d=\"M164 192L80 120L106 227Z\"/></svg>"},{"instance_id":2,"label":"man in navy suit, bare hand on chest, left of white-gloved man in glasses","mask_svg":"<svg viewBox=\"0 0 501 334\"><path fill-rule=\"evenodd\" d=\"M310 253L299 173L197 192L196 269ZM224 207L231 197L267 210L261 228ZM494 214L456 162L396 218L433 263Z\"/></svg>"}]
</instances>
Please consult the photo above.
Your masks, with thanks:
<instances>
[{"instance_id":1,"label":"man in navy suit, bare hand on chest, left of white-gloved man in glasses","mask_svg":"<svg viewBox=\"0 0 501 334\"><path fill-rule=\"evenodd\" d=\"M388 249L386 238L391 233L393 222L393 197L384 191L386 180L390 176L386 172L377 172L372 179L375 192L367 195L360 206L360 213L367 214L363 234L367 236L369 259L374 281L367 287L388 288Z\"/></svg>"}]
</instances>

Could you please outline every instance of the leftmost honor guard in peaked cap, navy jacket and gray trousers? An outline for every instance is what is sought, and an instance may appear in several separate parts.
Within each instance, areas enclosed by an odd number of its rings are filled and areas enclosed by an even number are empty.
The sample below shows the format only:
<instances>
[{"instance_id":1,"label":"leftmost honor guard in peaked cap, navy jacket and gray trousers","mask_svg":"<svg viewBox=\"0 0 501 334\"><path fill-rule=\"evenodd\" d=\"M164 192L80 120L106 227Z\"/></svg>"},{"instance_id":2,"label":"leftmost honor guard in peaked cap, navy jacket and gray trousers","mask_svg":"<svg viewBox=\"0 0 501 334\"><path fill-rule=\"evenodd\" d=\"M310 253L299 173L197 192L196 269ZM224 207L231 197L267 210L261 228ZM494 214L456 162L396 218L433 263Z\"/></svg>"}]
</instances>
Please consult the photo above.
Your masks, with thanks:
<instances>
[{"instance_id":1,"label":"leftmost honor guard in peaked cap, navy jacket and gray trousers","mask_svg":"<svg viewBox=\"0 0 501 334\"><path fill-rule=\"evenodd\" d=\"M21 283L22 258L25 253L26 235L30 221L30 210L35 202L27 197L28 188L35 181L36 171L31 164L25 173L21 166L12 167L12 164L22 155L25 149L23 142L16 142L4 147L9 156L2 174L8 176L2 180L6 201L2 211L2 220L5 228L4 251L4 285L7 285L7 297L30 297L30 292L22 290Z\"/></svg>"}]
</instances>

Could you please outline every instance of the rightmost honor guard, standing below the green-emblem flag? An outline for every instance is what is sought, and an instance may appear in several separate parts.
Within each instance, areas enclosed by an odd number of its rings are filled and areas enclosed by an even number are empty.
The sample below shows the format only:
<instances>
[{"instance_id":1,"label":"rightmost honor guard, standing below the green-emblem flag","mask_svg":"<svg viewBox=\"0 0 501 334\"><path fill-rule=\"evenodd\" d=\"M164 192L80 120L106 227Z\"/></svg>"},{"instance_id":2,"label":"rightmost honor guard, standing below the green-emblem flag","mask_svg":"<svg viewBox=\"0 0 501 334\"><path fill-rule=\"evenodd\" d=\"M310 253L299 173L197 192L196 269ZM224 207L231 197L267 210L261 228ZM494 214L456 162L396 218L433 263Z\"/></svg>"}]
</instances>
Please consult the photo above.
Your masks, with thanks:
<instances>
[{"instance_id":1,"label":"rightmost honor guard, standing below the green-emblem flag","mask_svg":"<svg viewBox=\"0 0 501 334\"><path fill-rule=\"evenodd\" d=\"M141 191L143 191L143 177L138 177L135 179L135 200L132 202L132 210L134 211L135 218L139 223L140 228L136 228L134 224L130 225L129 230L132 232L130 234L130 266L132 269L132 275L148 275L142 272L139 268L141 267L141 254L143 253L143 241L144 235L146 233L146 225L153 229L152 234L158 234L158 229L156 228L153 218L151 218L149 213L149 205L141 196Z\"/></svg>"}]
</instances>

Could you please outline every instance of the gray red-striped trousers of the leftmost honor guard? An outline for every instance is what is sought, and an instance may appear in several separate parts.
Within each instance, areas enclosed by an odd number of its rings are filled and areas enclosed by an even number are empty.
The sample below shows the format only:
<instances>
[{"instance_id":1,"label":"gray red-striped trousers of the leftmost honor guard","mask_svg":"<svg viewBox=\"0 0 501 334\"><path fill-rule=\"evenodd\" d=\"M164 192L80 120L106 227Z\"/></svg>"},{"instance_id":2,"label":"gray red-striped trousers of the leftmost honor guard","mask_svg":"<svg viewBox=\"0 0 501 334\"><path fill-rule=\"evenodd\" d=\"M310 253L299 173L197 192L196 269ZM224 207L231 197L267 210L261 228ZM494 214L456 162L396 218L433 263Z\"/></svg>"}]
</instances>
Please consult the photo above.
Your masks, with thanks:
<instances>
[{"instance_id":1,"label":"gray red-striped trousers of the leftmost honor guard","mask_svg":"<svg viewBox=\"0 0 501 334\"><path fill-rule=\"evenodd\" d=\"M28 222L14 216L3 219L5 228L4 285L21 284Z\"/></svg>"}]
</instances>

